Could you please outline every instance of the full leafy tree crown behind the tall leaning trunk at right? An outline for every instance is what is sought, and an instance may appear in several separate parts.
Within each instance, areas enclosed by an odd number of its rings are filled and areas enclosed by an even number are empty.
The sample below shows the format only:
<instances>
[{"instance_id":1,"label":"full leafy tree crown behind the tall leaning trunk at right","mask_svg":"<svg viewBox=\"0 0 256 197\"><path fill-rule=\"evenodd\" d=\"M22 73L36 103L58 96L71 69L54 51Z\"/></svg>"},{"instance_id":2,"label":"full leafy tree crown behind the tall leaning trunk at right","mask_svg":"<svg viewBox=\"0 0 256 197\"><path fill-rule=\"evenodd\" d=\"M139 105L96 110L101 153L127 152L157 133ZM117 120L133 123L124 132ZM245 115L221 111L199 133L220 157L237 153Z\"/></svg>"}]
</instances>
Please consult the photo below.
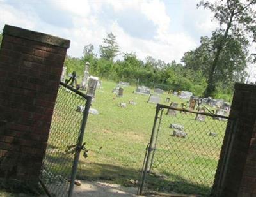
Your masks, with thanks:
<instances>
[{"instance_id":1,"label":"full leafy tree crown behind the tall leaning trunk at right","mask_svg":"<svg viewBox=\"0 0 256 197\"><path fill-rule=\"evenodd\" d=\"M186 52L182 57L184 68L200 72L209 80L212 75L211 66L216 55L216 45L221 36L215 31L211 38L202 37L200 46L193 51ZM214 92L211 96L220 90L231 93L234 82L244 81L246 56L248 55L246 47L247 45L244 45L241 40L231 35L227 36L225 46L219 56L218 66L214 69L214 78L212 78Z\"/></svg>"}]
</instances>

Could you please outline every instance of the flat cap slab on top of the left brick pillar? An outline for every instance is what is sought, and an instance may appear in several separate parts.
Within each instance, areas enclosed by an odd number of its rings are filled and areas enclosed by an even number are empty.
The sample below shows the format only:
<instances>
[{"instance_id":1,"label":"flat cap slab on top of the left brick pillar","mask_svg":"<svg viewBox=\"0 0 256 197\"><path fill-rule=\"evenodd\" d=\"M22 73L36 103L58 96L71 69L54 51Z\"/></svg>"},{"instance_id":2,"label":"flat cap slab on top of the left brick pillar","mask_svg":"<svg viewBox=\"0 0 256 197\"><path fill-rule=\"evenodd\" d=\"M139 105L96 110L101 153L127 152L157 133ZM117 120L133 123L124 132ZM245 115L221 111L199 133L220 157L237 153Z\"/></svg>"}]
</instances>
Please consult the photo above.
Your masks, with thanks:
<instances>
[{"instance_id":1,"label":"flat cap slab on top of the left brick pillar","mask_svg":"<svg viewBox=\"0 0 256 197\"><path fill-rule=\"evenodd\" d=\"M70 40L59 38L49 34L31 31L28 29L22 29L20 27L15 26L5 25L3 29L3 35L4 34L24 38L27 40L38 41L41 43L47 43L49 45L54 45L62 48L70 47Z\"/></svg>"}]
</instances>

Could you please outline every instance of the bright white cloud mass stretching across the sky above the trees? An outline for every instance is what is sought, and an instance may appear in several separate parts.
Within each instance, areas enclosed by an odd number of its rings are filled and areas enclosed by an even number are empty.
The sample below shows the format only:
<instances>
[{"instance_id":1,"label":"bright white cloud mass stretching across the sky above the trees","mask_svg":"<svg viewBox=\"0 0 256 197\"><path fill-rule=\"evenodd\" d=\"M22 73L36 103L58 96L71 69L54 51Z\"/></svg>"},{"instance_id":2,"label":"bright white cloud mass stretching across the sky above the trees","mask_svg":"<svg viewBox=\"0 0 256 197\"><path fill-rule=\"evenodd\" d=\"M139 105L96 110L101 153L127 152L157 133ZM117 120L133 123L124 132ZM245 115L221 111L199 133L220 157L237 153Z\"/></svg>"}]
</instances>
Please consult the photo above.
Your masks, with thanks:
<instances>
[{"instance_id":1,"label":"bright white cloud mass stretching across the sky above the trees","mask_svg":"<svg viewBox=\"0 0 256 197\"><path fill-rule=\"evenodd\" d=\"M166 62L172 60L179 62L184 52L195 48L197 43L189 34L168 32L171 18L166 13L166 7L162 1L56 1L49 4L49 6L65 11L68 17L72 18L73 24L70 28L47 24L36 16L36 10L33 8L28 12L14 8L10 4L2 4L0 21L2 27L4 24L11 24L70 39L68 54L75 57L81 57L84 45L89 43L92 43L99 51L99 45L102 44L103 38L109 31L117 36L122 52L136 52L140 59L145 59L150 55ZM29 3L25 5L29 8ZM118 25L115 18L108 18L109 23L104 24L102 22L104 6L111 6L118 13L122 13L127 8L140 11L155 24L157 35L150 40L133 37ZM177 20L177 18L172 20ZM204 27L204 24L201 26L203 29L208 28Z\"/></svg>"}]
</instances>

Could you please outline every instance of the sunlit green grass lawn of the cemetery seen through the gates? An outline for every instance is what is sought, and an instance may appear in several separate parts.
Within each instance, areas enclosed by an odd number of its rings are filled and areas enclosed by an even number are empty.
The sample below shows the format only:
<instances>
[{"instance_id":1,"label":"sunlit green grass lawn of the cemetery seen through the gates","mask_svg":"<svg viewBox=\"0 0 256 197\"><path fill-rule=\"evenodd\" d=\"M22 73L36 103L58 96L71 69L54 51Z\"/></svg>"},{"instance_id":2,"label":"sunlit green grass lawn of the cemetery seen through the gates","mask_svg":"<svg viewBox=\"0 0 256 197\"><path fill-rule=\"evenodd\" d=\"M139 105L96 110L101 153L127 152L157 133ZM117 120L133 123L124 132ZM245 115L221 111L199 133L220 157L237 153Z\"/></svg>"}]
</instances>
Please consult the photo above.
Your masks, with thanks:
<instances>
[{"instance_id":1,"label":"sunlit green grass lawn of the cemetery seen through the gates","mask_svg":"<svg viewBox=\"0 0 256 197\"><path fill-rule=\"evenodd\" d=\"M99 115L90 114L84 142L89 149L88 158L81 157L78 177L87 180L104 180L129 186L129 180L138 180L143 164L145 149L150 140L156 105L147 103L148 96L134 94L135 87L124 87L124 96L118 98L111 91L116 83L103 81L102 89L97 89L92 108ZM61 92L59 92L61 94ZM164 93L161 103L166 97L177 103L186 103L184 99ZM128 105L128 101L137 105ZM77 103L81 101L76 101ZM127 103L126 108L120 108L118 103ZM52 136L61 127L68 128L70 120L61 117L63 106L72 106L72 102L60 101L54 112L54 129ZM74 109L77 107L74 103ZM65 104L65 105L64 105ZM180 106L180 105L179 105ZM65 111L65 110L64 110ZM74 113L74 111L70 112ZM79 113L79 112L76 112ZM159 191L177 191L180 193L207 194L211 190L214 173L218 164L225 126L227 122L206 117L204 122L195 120L192 113L177 113L177 116L165 115L159 129L157 149L152 164L152 174L147 177L149 189ZM58 114L60 117L57 117ZM81 117L78 118L81 120ZM58 121L57 121L58 120ZM187 138L171 136L173 129L170 124L182 124ZM74 128L77 127L75 121ZM216 137L209 132L217 133ZM70 138L72 127L68 131L60 131L57 138ZM49 140L51 144L51 138ZM61 143L66 145L67 143ZM61 145L60 145L61 146ZM161 175L161 176L156 176Z\"/></svg>"}]
</instances>

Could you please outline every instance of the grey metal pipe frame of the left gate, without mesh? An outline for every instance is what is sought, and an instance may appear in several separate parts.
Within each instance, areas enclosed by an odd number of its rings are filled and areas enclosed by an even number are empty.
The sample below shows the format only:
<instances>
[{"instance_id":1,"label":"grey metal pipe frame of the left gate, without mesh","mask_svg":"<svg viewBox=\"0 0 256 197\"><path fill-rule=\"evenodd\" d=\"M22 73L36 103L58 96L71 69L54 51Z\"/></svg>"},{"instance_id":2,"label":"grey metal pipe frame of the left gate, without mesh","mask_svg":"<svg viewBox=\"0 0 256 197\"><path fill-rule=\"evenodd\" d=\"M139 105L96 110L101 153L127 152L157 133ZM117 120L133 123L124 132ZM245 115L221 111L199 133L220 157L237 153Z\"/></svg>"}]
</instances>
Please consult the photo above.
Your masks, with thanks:
<instances>
[{"instance_id":1,"label":"grey metal pipe frame of the left gate, without mesh","mask_svg":"<svg viewBox=\"0 0 256 197\"><path fill-rule=\"evenodd\" d=\"M60 82L60 85L62 85L63 87L67 88L69 91L74 92L75 94L81 96L81 98L86 100L86 103L85 103L85 106L84 106L84 111L83 111L83 119L81 121L81 126L80 126L80 131L79 131L79 136L77 138L76 147L74 148L75 149L74 160L73 160L73 163L72 163L70 184L69 184L69 189L68 189L68 197L71 197L72 193L73 193L73 190L74 190L74 182L76 180L76 173L77 173L77 166L78 166L78 162L79 162L80 152L81 152L81 150L84 149L83 138L84 138L84 133L85 133L85 128L86 128L86 122L87 122L87 119L88 119L89 109L90 109L90 106L91 106L91 103L92 103L92 97L87 96L83 92L77 91L77 89L74 89L70 85L67 85L63 82ZM42 163L42 170L43 170L43 168L44 168L44 162ZM42 185L43 189L45 190L45 193L47 194L47 196L52 197L51 193L47 189L47 186L45 186L45 184L44 184L44 182L42 181L41 178L40 178L40 184Z\"/></svg>"}]
</instances>

